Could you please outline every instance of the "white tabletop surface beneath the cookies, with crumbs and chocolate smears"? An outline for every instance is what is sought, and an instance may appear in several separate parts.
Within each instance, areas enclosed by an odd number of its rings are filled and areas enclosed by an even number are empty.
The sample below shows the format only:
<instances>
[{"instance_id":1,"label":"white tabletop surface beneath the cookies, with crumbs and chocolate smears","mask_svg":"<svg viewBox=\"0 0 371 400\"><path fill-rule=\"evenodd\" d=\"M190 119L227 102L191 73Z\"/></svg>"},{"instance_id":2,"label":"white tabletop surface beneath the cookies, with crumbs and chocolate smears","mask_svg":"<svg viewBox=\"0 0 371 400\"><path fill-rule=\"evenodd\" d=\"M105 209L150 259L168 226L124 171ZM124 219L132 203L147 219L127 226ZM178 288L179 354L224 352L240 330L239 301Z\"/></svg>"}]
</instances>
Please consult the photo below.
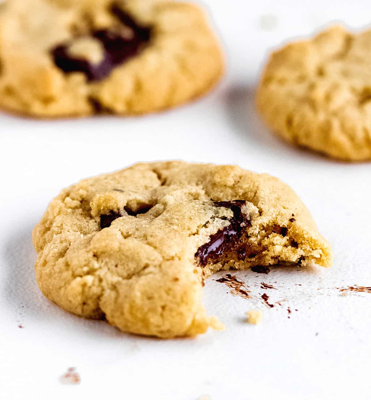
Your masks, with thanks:
<instances>
[{"instance_id":1,"label":"white tabletop surface beneath the cookies, with crumbs and chocolate smears","mask_svg":"<svg viewBox=\"0 0 371 400\"><path fill-rule=\"evenodd\" d=\"M331 162L291 148L271 136L253 108L269 48L330 20L363 26L368 2L206 3L223 37L228 72L203 100L131 119L46 122L0 115L0 398L370 398L371 294L342 297L336 288L371 286L371 164ZM290 184L331 242L334 267L237 273L254 294L286 300L272 309L208 280L209 314L228 329L196 339L123 334L46 300L34 279L31 230L48 201L82 177L171 158L239 164ZM277 282L278 290L262 290L260 282ZM290 319L288 306L298 309ZM243 322L253 307L264 309L261 326ZM60 384L72 366L80 385Z\"/></svg>"}]
</instances>

